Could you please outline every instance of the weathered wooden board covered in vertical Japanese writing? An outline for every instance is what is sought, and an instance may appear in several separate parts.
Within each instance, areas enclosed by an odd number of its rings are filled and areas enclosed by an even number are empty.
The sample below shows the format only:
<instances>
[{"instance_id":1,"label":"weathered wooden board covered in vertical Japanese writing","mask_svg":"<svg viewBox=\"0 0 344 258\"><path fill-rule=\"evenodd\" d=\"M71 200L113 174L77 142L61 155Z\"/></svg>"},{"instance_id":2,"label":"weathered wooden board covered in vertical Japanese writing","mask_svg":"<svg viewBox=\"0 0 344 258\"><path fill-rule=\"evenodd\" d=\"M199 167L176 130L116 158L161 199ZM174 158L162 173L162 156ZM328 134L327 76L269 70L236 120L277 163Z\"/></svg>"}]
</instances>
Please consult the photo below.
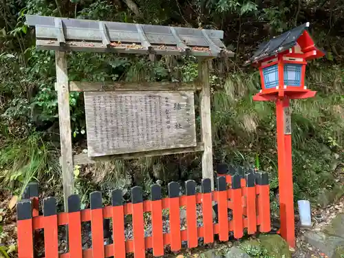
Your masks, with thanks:
<instances>
[{"instance_id":1,"label":"weathered wooden board covered in vertical Japanese writing","mask_svg":"<svg viewBox=\"0 0 344 258\"><path fill-rule=\"evenodd\" d=\"M193 91L84 94L89 157L196 146Z\"/></svg>"}]
</instances>

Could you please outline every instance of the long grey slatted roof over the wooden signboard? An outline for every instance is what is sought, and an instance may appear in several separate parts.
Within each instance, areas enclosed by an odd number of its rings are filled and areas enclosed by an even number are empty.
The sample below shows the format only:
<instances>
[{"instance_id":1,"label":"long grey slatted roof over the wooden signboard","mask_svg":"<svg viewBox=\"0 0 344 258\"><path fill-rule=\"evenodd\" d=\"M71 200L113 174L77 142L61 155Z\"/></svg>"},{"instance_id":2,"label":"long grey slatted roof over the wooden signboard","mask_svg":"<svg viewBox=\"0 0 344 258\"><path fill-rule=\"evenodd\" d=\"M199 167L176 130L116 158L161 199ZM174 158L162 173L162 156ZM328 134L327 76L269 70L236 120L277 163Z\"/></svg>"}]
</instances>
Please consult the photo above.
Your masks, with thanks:
<instances>
[{"instance_id":1,"label":"long grey slatted roof over the wooden signboard","mask_svg":"<svg viewBox=\"0 0 344 258\"><path fill-rule=\"evenodd\" d=\"M26 15L43 50L192 56L233 56L222 30Z\"/></svg>"}]
</instances>

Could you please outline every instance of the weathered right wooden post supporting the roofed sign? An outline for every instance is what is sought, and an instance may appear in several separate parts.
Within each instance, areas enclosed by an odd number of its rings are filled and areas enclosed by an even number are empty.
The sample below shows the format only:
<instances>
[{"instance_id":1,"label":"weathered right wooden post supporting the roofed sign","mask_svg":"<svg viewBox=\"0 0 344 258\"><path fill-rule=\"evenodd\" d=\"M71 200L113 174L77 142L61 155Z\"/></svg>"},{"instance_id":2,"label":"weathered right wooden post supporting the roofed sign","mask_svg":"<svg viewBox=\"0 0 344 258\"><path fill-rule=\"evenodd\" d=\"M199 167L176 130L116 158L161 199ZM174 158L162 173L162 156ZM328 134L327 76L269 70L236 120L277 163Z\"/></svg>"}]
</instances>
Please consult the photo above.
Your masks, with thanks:
<instances>
[{"instance_id":1,"label":"weathered right wooden post supporting the roofed sign","mask_svg":"<svg viewBox=\"0 0 344 258\"><path fill-rule=\"evenodd\" d=\"M199 59L198 61L198 76L202 83L200 94L201 133L202 142L204 143L202 178L209 178L211 180L211 189L214 190L213 143L211 140L211 86L208 62L208 58Z\"/></svg>"}]
</instances>

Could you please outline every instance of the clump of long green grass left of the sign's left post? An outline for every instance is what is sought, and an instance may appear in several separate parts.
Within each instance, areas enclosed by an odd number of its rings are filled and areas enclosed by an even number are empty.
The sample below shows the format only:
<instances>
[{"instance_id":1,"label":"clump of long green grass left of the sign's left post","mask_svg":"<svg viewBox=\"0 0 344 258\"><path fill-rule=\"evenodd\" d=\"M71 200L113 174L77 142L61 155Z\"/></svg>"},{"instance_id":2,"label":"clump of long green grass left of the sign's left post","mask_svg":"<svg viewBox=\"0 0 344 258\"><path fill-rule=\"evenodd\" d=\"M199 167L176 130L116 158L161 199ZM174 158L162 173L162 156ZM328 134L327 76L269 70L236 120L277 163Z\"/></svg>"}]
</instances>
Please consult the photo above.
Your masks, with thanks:
<instances>
[{"instance_id":1,"label":"clump of long green grass left of the sign's left post","mask_svg":"<svg viewBox=\"0 0 344 258\"><path fill-rule=\"evenodd\" d=\"M21 195L29 182L50 182L54 177L59 178L57 153L39 133L25 139L6 139L0 145L1 186Z\"/></svg>"}]
</instances>

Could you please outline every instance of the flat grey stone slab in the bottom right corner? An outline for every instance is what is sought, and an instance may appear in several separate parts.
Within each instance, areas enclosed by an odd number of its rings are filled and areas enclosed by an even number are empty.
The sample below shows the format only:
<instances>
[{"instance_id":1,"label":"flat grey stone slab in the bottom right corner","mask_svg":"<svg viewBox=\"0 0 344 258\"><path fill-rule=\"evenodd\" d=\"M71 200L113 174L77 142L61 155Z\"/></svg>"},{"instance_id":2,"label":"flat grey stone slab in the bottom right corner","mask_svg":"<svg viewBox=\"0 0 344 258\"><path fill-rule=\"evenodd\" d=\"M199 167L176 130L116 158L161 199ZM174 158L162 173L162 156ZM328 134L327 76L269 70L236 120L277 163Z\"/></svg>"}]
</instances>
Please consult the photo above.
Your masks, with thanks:
<instances>
[{"instance_id":1,"label":"flat grey stone slab in the bottom right corner","mask_svg":"<svg viewBox=\"0 0 344 258\"><path fill-rule=\"evenodd\" d=\"M338 246L344 246L344 239L341 237L311 230L305 233L305 240L315 248L321 250L328 257L334 255L334 251Z\"/></svg>"}]
</instances>

